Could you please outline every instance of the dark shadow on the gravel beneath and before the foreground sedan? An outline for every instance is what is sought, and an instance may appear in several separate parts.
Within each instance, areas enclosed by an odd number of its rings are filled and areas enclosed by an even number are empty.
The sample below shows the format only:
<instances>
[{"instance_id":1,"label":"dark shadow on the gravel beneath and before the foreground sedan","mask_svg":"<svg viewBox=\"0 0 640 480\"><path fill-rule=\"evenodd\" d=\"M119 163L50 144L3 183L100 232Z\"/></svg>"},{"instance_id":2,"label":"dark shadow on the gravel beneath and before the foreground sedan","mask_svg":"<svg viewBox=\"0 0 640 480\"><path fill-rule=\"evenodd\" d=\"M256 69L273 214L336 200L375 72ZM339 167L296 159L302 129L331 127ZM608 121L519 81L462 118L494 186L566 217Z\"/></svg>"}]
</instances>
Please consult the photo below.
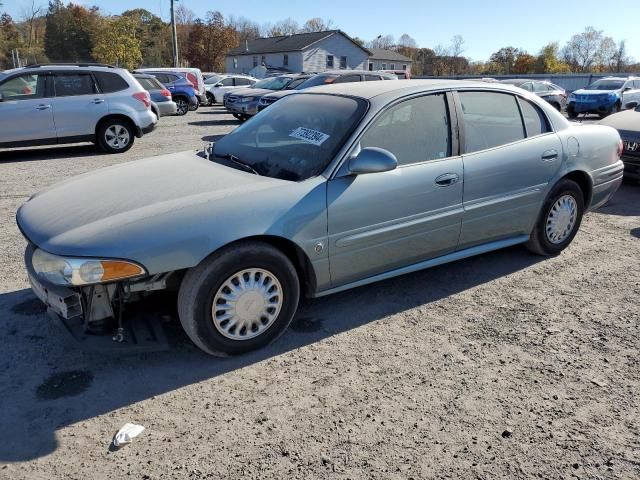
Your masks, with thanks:
<instances>
[{"instance_id":1,"label":"dark shadow on the gravel beneath and before the foreground sedan","mask_svg":"<svg viewBox=\"0 0 640 480\"><path fill-rule=\"evenodd\" d=\"M289 331L275 344L226 359L209 357L198 350L175 318L165 324L171 343L169 351L119 357L83 353L66 332L49 325L46 315L31 303L33 295L29 290L2 294L0 372L5 380L0 384L0 426L2 431L10 432L11 440L0 444L0 461L42 457L56 450L56 430L62 427L224 375L416 306L427 307L425 321L437 321L438 310L428 308L432 302L541 260L522 247L512 247L307 300ZM172 301L164 295L150 310L157 308L157 317L175 316ZM110 438L97 440L106 445Z\"/></svg>"}]
</instances>

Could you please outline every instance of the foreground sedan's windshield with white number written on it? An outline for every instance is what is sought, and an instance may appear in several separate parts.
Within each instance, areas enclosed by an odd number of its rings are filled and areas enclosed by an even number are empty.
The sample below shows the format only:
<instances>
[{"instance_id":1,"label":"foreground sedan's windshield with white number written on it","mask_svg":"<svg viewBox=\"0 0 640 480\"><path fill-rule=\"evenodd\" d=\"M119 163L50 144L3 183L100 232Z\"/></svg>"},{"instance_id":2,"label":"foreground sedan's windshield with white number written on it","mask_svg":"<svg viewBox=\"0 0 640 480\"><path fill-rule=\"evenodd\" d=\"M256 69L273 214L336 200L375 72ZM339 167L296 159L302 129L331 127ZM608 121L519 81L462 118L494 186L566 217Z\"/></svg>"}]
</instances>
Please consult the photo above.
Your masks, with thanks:
<instances>
[{"instance_id":1,"label":"foreground sedan's windshield with white number written on it","mask_svg":"<svg viewBox=\"0 0 640 480\"><path fill-rule=\"evenodd\" d=\"M213 159L242 163L258 175L306 180L327 167L367 105L337 95L290 95L219 140Z\"/></svg>"}]
</instances>

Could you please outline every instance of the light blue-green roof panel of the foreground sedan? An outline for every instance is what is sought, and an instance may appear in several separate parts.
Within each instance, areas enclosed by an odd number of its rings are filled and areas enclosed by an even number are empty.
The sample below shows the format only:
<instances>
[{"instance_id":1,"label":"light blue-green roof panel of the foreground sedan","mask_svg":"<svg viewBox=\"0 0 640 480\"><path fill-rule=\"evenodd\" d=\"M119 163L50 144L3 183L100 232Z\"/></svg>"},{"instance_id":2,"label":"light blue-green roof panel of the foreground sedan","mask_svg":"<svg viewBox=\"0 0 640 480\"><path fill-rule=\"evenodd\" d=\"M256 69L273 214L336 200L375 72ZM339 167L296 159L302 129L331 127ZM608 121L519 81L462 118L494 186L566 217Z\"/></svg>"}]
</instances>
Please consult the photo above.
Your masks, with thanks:
<instances>
[{"instance_id":1,"label":"light blue-green roof panel of the foreground sedan","mask_svg":"<svg viewBox=\"0 0 640 480\"><path fill-rule=\"evenodd\" d=\"M351 82L333 83L331 85L320 85L311 87L300 92L302 93L331 93L336 95L348 95L371 99L378 95L398 92L402 94L418 93L428 90L453 89L453 88L478 88L482 90L504 90L509 92L518 91L515 87L506 84L487 83L473 80L397 80L393 82Z\"/></svg>"}]
</instances>

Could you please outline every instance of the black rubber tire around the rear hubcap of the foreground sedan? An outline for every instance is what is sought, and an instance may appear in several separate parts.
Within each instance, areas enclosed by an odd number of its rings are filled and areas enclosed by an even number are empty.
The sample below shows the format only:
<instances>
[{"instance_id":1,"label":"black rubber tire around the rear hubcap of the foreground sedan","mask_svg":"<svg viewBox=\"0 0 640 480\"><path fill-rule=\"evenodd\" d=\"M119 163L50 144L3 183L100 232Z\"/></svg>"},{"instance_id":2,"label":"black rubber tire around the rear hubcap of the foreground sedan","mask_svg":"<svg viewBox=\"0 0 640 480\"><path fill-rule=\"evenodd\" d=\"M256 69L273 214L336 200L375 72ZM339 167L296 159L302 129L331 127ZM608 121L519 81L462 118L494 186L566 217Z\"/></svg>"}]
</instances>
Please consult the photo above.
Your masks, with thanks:
<instances>
[{"instance_id":1,"label":"black rubber tire around the rear hubcap of the foreground sedan","mask_svg":"<svg viewBox=\"0 0 640 480\"><path fill-rule=\"evenodd\" d=\"M550 214L556 202L565 196L571 197L575 201L575 215L571 230L565 230L568 235L561 241L554 242L547 233L547 224L550 222ZM542 205L538 221L533 227L533 232L526 247L533 253L538 255L558 255L562 250L567 248L578 233L582 215L584 213L584 195L576 182L569 179L560 180L549 192L547 198Z\"/></svg>"}]
</instances>

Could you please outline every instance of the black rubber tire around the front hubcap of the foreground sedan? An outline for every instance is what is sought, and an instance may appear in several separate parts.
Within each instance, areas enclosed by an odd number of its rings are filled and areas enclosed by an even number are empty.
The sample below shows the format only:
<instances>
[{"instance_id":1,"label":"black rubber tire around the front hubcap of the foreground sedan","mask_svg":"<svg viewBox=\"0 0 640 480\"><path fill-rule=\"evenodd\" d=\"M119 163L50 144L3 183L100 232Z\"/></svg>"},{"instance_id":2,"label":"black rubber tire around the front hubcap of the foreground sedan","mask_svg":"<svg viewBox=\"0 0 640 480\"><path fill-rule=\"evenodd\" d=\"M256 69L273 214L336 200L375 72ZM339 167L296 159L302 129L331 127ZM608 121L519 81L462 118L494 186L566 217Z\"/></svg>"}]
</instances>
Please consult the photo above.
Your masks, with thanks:
<instances>
[{"instance_id":1,"label":"black rubber tire around the front hubcap of the foreground sedan","mask_svg":"<svg viewBox=\"0 0 640 480\"><path fill-rule=\"evenodd\" d=\"M282 289L280 311L257 336L228 338L214 324L213 301L228 279L250 268L266 270L278 280ZM268 345L282 335L296 313L299 298L300 283L291 261L268 244L247 241L214 253L187 272L178 293L178 315L185 332L200 349L219 357L238 355ZM241 332L242 328L238 334Z\"/></svg>"}]
</instances>

